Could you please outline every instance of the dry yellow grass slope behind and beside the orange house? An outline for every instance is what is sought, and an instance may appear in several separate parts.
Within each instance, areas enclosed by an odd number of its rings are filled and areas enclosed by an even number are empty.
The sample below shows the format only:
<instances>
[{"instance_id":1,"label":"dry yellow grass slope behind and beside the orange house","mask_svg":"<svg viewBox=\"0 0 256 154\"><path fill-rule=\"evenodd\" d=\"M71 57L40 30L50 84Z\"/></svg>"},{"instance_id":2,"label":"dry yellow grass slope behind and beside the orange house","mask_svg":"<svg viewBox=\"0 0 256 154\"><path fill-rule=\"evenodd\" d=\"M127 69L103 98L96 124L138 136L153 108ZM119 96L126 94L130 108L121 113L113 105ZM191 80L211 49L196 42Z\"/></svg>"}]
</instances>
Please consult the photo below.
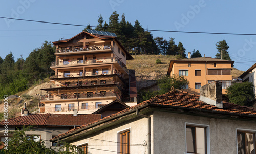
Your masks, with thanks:
<instances>
[{"instance_id":1,"label":"dry yellow grass slope behind and beside the orange house","mask_svg":"<svg viewBox=\"0 0 256 154\"><path fill-rule=\"evenodd\" d=\"M165 76L169 68L170 60L175 60L176 56L168 55L133 55L134 60L127 60L128 69L134 69L136 76L152 75ZM161 60L161 64L156 64L156 59ZM244 71L232 68L232 78L239 77Z\"/></svg>"}]
</instances>

